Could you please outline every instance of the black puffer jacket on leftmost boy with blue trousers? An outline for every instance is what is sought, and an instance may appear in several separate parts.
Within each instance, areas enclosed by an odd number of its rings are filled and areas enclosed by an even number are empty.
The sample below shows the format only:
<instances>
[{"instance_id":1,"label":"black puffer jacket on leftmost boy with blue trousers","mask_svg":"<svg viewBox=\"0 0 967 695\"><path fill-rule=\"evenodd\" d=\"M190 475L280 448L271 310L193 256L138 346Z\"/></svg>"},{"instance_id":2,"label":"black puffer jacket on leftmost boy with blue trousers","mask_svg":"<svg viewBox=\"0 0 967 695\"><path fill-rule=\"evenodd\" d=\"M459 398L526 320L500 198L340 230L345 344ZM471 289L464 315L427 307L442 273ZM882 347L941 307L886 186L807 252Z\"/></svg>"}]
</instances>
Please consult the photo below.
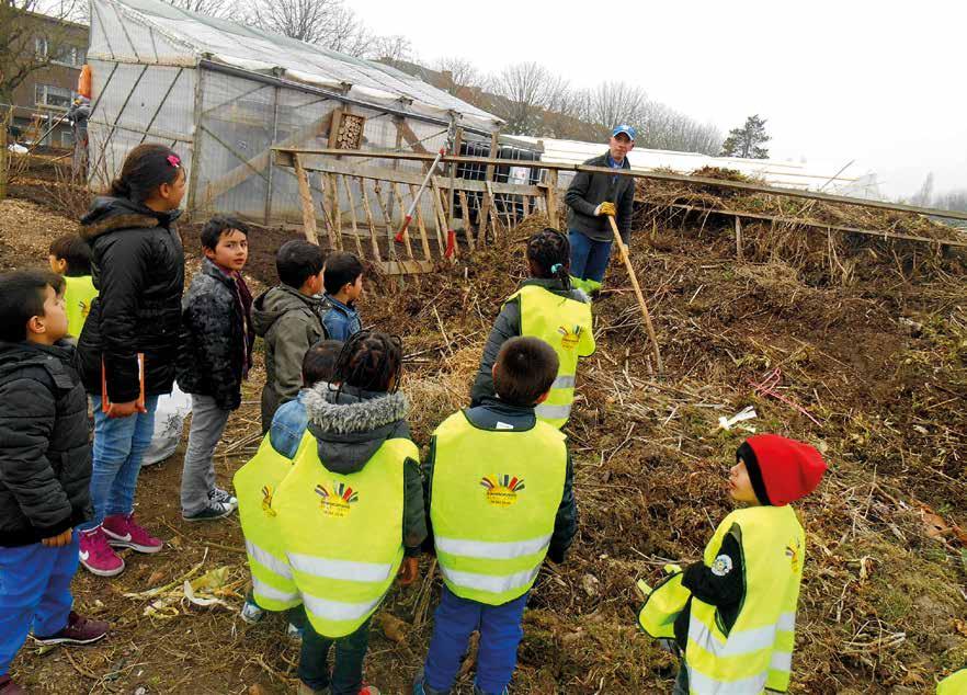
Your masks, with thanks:
<instances>
[{"instance_id":1,"label":"black puffer jacket on leftmost boy with blue trousers","mask_svg":"<svg viewBox=\"0 0 967 695\"><path fill-rule=\"evenodd\" d=\"M73 348L0 342L0 546L91 517L88 399Z\"/></svg>"}]
</instances>

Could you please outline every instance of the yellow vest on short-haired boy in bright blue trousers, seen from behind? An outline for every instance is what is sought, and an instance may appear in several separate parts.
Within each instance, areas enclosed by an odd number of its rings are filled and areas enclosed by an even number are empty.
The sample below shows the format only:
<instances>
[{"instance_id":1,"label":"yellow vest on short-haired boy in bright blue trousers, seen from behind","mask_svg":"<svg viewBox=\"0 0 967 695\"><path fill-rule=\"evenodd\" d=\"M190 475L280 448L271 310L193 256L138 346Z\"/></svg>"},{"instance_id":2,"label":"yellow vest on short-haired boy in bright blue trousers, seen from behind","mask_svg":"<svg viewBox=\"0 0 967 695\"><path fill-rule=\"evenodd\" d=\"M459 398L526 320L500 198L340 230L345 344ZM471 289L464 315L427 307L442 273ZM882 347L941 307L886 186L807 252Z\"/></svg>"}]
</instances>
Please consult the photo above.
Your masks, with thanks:
<instances>
[{"instance_id":1,"label":"yellow vest on short-haired boy in bright blue trousers, seen from behind","mask_svg":"<svg viewBox=\"0 0 967 695\"><path fill-rule=\"evenodd\" d=\"M567 475L565 436L480 430L463 412L436 428L430 519L443 581L462 599L513 601L547 555Z\"/></svg>"}]
</instances>

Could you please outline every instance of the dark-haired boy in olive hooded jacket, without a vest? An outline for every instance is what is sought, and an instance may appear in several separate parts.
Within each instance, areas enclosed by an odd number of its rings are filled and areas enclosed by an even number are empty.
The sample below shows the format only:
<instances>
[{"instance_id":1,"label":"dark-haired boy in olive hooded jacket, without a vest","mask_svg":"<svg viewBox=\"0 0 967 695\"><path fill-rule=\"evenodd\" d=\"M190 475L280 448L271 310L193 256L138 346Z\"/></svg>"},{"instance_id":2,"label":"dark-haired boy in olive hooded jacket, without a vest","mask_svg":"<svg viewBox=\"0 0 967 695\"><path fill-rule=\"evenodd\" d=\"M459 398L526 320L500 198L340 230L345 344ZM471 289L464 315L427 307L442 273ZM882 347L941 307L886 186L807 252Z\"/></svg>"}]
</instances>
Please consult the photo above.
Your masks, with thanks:
<instances>
[{"instance_id":1,"label":"dark-haired boy in olive hooded jacket, without a vest","mask_svg":"<svg viewBox=\"0 0 967 695\"><path fill-rule=\"evenodd\" d=\"M252 310L255 333L265 339L262 434L278 407L298 396L303 357L326 338L322 328L322 250L302 239L286 241L275 254L281 284L262 294Z\"/></svg>"}]
</instances>

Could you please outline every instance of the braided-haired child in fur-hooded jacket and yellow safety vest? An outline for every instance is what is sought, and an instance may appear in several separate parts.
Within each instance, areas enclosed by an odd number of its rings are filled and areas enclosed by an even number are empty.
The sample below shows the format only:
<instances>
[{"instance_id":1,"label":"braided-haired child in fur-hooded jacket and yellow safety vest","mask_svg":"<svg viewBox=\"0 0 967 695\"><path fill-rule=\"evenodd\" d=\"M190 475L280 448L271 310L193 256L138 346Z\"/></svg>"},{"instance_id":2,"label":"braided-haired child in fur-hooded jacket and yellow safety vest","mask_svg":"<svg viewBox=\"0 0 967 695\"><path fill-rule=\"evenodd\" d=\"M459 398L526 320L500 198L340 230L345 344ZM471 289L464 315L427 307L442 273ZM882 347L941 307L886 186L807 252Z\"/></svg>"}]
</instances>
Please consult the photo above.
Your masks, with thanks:
<instances>
[{"instance_id":1,"label":"braided-haired child in fur-hooded jacket and yellow safety vest","mask_svg":"<svg viewBox=\"0 0 967 695\"><path fill-rule=\"evenodd\" d=\"M369 618L398 571L401 584L419 571L426 525L409 402L396 390L401 364L399 340L385 333L361 331L346 342L333 376L339 387L320 384L303 399L308 432L272 497L309 622L302 694L378 695L363 686Z\"/></svg>"}]
</instances>

